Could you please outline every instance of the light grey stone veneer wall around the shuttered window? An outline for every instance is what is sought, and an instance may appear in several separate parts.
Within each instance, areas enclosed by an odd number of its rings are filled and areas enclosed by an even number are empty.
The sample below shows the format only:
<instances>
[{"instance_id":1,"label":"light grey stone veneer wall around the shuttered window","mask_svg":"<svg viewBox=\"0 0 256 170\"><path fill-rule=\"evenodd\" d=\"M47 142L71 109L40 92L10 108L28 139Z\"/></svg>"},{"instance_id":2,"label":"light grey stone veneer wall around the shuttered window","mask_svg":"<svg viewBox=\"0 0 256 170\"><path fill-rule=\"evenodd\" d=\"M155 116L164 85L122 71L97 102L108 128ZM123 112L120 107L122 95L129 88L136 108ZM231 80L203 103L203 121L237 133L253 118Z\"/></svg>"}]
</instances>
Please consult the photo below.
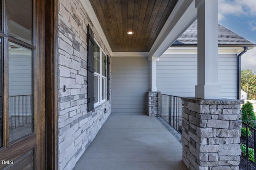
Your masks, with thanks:
<instances>
[{"instance_id":1,"label":"light grey stone veneer wall around the shuttered window","mask_svg":"<svg viewBox=\"0 0 256 170\"><path fill-rule=\"evenodd\" d=\"M58 168L60 170L71 170L75 166L111 113L111 96L109 101L87 112L88 24L94 31L94 38L109 55L80 0L58 1Z\"/></svg>"}]
</instances>

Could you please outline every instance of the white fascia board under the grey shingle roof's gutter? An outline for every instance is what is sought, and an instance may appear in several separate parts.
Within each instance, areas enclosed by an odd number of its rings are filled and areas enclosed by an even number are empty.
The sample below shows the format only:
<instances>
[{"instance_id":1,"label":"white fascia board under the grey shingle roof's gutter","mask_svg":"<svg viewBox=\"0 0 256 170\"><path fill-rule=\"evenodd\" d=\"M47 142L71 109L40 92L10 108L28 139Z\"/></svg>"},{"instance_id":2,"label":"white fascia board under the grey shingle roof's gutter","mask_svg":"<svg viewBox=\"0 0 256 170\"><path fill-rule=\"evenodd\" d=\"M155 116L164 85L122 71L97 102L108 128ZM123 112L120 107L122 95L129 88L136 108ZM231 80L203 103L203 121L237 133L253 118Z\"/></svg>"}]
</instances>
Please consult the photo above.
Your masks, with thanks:
<instances>
[{"instance_id":1,"label":"white fascia board under the grey shingle roof's gutter","mask_svg":"<svg viewBox=\"0 0 256 170\"><path fill-rule=\"evenodd\" d=\"M252 47L248 47L252 49ZM218 54L239 54L244 47L218 47ZM197 54L197 47L169 47L163 54Z\"/></svg>"}]
</instances>

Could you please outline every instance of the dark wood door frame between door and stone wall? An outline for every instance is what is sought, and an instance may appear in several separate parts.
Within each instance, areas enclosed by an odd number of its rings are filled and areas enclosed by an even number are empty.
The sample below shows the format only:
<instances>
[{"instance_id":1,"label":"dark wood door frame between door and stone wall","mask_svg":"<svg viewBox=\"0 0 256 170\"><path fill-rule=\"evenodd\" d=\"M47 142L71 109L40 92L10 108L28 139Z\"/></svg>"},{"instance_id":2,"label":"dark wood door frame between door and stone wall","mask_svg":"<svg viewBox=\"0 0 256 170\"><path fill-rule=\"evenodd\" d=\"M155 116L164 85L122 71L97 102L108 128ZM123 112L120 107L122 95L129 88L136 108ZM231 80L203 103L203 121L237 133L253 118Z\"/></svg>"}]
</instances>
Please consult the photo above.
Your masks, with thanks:
<instances>
[{"instance_id":1,"label":"dark wood door frame between door and stone wall","mask_svg":"<svg viewBox=\"0 0 256 170\"><path fill-rule=\"evenodd\" d=\"M58 169L58 2L46 0L46 169Z\"/></svg>"}]
</instances>

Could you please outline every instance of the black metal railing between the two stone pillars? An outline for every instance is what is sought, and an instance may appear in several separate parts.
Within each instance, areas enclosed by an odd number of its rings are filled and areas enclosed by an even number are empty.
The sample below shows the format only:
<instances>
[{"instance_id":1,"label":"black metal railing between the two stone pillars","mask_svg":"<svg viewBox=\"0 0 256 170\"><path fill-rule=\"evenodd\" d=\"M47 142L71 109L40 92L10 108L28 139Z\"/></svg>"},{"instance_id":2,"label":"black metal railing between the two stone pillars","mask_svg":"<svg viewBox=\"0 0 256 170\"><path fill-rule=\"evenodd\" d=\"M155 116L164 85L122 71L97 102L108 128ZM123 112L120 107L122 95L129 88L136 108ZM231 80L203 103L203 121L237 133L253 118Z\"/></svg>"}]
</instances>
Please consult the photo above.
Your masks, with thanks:
<instances>
[{"instance_id":1,"label":"black metal railing between the two stone pillars","mask_svg":"<svg viewBox=\"0 0 256 170\"><path fill-rule=\"evenodd\" d=\"M157 94L158 116L162 117L178 133L182 133L182 100L178 96Z\"/></svg>"}]
</instances>

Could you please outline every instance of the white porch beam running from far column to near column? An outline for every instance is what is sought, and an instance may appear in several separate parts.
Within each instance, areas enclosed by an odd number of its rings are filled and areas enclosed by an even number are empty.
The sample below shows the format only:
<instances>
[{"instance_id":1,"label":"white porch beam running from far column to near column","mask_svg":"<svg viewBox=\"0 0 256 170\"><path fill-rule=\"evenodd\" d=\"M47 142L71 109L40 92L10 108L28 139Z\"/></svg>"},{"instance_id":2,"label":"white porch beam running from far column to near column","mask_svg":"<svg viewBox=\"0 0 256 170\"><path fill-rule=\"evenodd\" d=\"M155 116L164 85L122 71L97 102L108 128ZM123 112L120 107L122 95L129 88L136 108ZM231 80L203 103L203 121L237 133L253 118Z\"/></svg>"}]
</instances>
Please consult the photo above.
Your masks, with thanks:
<instances>
[{"instance_id":1,"label":"white porch beam running from far column to near column","mask_svg":"<svg viewBox=\"0 0 256 170\"><path fill-rule=\"evenodd\" d=\"M149 57L160 57L196 18L195 0L179 0L152 45Z\"/></svg>"}]
</instances>

